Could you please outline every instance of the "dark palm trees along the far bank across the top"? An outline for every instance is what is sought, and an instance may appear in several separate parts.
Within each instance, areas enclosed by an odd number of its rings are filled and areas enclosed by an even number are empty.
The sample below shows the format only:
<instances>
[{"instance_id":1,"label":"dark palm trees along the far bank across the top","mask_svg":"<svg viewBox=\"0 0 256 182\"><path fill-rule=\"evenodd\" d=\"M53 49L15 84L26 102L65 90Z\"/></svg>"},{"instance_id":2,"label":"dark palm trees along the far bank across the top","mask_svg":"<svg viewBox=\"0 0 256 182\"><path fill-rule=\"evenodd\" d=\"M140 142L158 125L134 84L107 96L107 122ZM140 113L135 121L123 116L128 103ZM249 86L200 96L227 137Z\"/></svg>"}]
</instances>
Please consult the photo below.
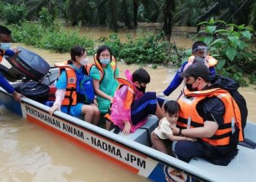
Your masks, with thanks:
<instances>
[{"instance_id":1,"label":"dark palm trees along the far bank across the top","mask_svg":"<svg viewBox=\"0 0 256 182\"><path fill-rule=\"evenodd\" d=\"M162 31L170 40L173 25L197 26L215 17L227 23L252 25L256 29L254 0L2 0L0 18L8 23L22 19L38 20L45 8L50 19L63 19L69 25L136 28L138 22L163 23Z\"/></svg>"}]
</instances>

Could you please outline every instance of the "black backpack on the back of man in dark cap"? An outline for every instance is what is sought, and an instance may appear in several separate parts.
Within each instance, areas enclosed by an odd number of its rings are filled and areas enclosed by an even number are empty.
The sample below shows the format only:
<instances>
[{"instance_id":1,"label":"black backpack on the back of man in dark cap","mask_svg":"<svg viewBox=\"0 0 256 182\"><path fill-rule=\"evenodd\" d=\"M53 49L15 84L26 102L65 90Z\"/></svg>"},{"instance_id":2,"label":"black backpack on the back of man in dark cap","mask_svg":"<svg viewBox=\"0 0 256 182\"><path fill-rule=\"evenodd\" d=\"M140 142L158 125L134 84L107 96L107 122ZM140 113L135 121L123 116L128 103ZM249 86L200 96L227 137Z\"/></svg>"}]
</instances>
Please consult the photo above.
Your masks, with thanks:
<instances>
[{"instance_id":1,"label":"black backpack on the back of man in dark cap","mask_svg":"<svg viewBox=\"0 0 256 182\"><path fill-rule=\"evenodd\" d=\"M248 109L246 106L246 100L238 92L238 88L240 87L239 84L236 83L233 79L229 79L220 75L212 75L211 85L213 87L219 87L224 90L227 90L230 93L230 95L233 97L233 99L236 101L238 108L241 112L241 125L244 133L244 127L246 126L246 120L248 116Z\"/></svg>"}]
</instances>

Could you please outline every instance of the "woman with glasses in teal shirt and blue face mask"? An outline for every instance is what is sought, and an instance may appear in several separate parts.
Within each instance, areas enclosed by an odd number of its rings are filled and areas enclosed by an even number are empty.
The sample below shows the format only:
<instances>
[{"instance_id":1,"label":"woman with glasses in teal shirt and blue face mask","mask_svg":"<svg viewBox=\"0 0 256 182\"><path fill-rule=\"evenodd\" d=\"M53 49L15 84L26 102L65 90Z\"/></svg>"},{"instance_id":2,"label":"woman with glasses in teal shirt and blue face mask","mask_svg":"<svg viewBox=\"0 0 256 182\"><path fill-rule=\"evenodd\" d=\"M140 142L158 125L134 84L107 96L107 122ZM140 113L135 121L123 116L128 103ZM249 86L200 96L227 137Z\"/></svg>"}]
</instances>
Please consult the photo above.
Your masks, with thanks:
<instances>
[{"instance_id":1,"label":"woman with glasses in teal shirt and blue face mask","mask_svg":"<svg viewBox=\"0 0 256 182\"><path fill-rule=\"evenodd\" d=\"M98 48L96 55L94 55L94 62L95 66L91 67L90 76L93 79L99 111L105 115L118 87L116 80L118 68L116 68L116 60L107 46ZM110 122L106 121L106 130L110 130L110 126Z\"/></svg>"}]
</instances>

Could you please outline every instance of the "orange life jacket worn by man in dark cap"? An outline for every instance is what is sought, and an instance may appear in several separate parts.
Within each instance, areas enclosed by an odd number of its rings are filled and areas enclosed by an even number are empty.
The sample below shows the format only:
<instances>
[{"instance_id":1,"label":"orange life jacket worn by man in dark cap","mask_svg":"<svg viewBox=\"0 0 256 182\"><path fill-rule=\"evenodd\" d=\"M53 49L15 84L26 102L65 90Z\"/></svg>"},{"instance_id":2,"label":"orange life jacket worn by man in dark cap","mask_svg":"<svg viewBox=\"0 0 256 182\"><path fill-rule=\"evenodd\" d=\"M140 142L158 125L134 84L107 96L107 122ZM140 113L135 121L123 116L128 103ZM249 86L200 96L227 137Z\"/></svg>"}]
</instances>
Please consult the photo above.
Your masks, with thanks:
<instances>
[{"instance_id":1,"label":"orange life jacket worn by man in dark cap","mask_svg":"<svg viewBox=\"0 0 256 182\"><path fill-rule=\"evenodd\" d=\"M181 128L203 127L203 118L197 113L196 106L200 100L216 96L225 105L224 123L219 125L217 132L211 138L200 138L212 146L226 146L230 143L233 128L240 129L238 141L244 141L241 127L241 113L229 92L222 89L211 89L190 92L186 88L178 99L181 111L178 117L178 126Z\"/></svg>"}]
</instances>

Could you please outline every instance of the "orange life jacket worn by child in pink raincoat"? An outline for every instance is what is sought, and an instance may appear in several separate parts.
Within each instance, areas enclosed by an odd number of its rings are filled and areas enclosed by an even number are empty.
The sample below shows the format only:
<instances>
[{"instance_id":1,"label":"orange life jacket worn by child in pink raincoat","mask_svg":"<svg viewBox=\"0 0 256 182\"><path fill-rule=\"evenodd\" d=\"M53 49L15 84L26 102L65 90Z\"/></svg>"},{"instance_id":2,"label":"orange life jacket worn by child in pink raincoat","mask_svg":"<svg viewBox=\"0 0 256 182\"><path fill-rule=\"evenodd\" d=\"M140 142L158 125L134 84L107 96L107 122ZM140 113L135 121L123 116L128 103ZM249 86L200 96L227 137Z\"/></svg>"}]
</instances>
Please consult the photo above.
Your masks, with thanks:
<instances>
[{"instance_id":1,"label":"orange life jacket worn by child in pink raincoat","mask_svg":"<svg viewBox=\"0 0 256 182\"><path fill-rule=\"evenodd\" d=\"M118 89L120 89L124 85L128 86L128 92L127 97L125 98L124 108L131 108L132 102L135 98L135 86L131 82L129 82L129 80L124 78L118 78L117 81L119 83Z\"/></svg>"}]
</instances>

